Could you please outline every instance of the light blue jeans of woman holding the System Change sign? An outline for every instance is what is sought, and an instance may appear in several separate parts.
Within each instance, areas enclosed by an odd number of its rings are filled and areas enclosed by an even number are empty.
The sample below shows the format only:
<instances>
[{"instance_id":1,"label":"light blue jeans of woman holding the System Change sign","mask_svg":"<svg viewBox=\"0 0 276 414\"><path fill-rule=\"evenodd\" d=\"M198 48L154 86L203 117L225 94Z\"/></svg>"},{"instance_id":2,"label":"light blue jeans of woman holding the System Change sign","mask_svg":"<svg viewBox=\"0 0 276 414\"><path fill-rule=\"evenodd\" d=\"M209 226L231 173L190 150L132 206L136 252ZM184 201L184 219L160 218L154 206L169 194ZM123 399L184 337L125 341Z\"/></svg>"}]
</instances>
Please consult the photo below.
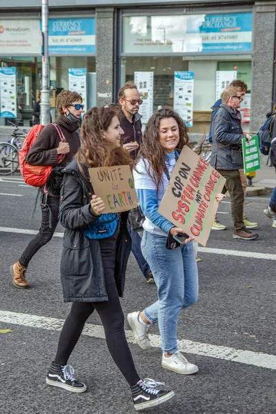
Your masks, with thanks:
<instances>
[{"instance_id":1,"label":"light blue jeans of woman holding the System Change sign","mask_svg":"<svg viewBox=\"0 0 276 414\"><path fill-rule=\"evenodd\" d=\"M166 237L144 231L142 253L157 284L158 300L144 309L148 322L158 322L164 353L177 351L177 317L197 302L198 273L193 243L166 249Z\"/></svg>"}]
</instances>

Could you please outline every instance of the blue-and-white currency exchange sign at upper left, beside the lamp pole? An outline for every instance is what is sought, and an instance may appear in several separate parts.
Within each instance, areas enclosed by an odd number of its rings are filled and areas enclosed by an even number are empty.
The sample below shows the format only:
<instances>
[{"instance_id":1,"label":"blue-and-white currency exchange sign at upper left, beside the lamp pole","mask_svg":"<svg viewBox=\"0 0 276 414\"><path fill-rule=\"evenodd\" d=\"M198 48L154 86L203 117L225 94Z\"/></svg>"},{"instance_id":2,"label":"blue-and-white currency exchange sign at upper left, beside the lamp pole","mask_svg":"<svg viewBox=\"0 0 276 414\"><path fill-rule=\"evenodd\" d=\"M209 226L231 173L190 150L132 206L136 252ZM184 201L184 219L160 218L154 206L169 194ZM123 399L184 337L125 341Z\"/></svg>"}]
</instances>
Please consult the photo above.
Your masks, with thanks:
<instances>
[{"instance_id":1,"label":"blue-and-white currency exchange sign at upper left, beside the lamp pole","mask_svg":"<svg viewBox=\"0 0 276 414\"><path fill-rule=\"evenodd\" d=\"M95 53L95 19L50 19L49 54Z\"/></svg>"}]
</instances>

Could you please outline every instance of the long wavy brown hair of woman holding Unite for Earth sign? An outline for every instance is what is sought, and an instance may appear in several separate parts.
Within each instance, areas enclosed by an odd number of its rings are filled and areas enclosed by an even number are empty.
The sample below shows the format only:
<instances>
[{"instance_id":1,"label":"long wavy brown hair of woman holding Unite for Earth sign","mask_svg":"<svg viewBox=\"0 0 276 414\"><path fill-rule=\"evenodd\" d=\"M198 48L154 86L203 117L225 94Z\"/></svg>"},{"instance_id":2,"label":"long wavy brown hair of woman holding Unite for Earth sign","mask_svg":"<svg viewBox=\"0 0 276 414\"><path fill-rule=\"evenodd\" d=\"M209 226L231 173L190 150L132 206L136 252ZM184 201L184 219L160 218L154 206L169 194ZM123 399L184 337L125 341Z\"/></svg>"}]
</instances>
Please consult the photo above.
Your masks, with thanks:
<instances>
[{"instance_id":1,"label":"long wavy brown hair of woman holding Unite for Earth sign","mask_svg":"<svg viewBox=\"0 0 276 414\"><path fill-rule=\"evenodd\" d=\"M112 119L117 117L111 108L92 108L86 112L81 126L81 149L77 162L81 173L88 168L129 165L133 160L122 147L112 148L102 132L107 131Z\"/></svg>"}]
</instances>

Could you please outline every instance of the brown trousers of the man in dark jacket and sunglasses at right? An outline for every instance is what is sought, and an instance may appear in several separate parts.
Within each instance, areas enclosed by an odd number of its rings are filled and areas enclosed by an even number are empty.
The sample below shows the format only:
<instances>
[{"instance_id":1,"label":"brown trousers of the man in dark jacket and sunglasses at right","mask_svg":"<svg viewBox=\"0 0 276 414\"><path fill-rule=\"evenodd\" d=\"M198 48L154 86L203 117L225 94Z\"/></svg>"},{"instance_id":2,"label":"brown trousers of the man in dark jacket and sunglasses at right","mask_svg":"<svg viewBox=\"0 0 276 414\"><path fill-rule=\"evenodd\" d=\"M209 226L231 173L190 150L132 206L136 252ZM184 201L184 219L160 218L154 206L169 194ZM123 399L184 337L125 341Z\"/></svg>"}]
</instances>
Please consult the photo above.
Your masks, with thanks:
<instances>
[{"instance_id":1,"label":"brown trousers of the man in dark jacket and sunglasses at right","mask_svg":"<svg viewBox=\"0 0 276 414\"><path fill-rule=\"evenodd\" d=\"M232 219L235 231L244 228L244 189L239 170L217 170L226 179L225 187L230 194Z\"/></svg>"}]
</instances>

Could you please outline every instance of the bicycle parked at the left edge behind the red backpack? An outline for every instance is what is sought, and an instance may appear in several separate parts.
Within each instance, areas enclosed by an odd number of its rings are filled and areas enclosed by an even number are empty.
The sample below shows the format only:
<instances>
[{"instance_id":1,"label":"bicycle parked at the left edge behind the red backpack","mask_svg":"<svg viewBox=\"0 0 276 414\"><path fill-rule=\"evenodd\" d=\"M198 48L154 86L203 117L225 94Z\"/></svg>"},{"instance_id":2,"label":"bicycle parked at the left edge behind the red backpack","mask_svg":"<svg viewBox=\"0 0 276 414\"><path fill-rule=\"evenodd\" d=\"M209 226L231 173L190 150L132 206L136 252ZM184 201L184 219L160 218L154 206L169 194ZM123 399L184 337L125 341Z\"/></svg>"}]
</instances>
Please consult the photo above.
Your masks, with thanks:
<instances>
[{"instance_id":1,"label":"bicycle parked at the left edge behind the red backpack","mask_svg":"<svg viewBox=\"0 0 276 414\"><path fill-rule=\"evenodd\" d=\"M21 130L17 124L8 121L14 126L8 142L0 143L0 175L11 175L19 168L19 150L28 131ZM25 135L24 135L25 134Z\"/></svg>"}]
</instances>

